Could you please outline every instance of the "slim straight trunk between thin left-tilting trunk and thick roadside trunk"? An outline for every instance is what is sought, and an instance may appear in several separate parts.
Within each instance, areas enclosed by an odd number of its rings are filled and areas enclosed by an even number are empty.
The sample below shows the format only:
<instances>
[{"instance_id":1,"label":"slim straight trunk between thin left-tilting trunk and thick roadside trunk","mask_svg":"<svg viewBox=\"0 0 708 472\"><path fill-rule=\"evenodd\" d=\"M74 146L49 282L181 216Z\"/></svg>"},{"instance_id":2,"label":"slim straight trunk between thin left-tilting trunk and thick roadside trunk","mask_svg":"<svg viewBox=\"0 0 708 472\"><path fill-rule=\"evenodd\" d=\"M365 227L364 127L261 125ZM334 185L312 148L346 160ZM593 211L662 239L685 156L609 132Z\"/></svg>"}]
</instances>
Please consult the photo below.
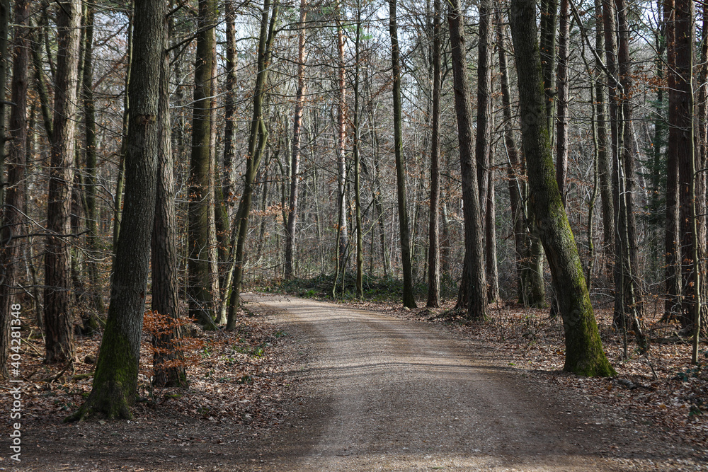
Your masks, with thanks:
<instances>
[{"instance_id":1,"label":"slim straight trunk between thin left-tilting trunk and thick roadside trunk","mask_svg":"<svg viewBox=\"0 0 708 472\"><path fill-rule=\"evenodd\" d=\"M428 303L440 306L440 43L442 2L433 2L433 129L430 139L430 224L428 227Z\"/></svg>"}]
</instances>

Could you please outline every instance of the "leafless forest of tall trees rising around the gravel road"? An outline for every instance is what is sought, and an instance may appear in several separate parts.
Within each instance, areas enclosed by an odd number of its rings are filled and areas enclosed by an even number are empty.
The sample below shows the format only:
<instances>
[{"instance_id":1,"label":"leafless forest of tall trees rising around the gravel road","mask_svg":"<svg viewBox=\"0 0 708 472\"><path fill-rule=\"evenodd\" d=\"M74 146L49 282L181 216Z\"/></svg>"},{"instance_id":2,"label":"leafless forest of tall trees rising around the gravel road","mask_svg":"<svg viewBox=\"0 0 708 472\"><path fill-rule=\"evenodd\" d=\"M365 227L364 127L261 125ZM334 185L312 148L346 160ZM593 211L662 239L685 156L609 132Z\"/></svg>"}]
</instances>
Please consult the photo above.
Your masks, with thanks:
<instances>
[{"instance_id":1,"label":"leafless forest of tall trees rising around the gravel road","mask_svg":"<svg viewBox=\"0 0 708 472\"><path fill-rule=\"evenodd\" d=\"M263 287L543 309L581 376L598 306L704 357L708 4L1 0L0 56L0 376L100 339L70 420Z\"/></svg>"}]
</instances>

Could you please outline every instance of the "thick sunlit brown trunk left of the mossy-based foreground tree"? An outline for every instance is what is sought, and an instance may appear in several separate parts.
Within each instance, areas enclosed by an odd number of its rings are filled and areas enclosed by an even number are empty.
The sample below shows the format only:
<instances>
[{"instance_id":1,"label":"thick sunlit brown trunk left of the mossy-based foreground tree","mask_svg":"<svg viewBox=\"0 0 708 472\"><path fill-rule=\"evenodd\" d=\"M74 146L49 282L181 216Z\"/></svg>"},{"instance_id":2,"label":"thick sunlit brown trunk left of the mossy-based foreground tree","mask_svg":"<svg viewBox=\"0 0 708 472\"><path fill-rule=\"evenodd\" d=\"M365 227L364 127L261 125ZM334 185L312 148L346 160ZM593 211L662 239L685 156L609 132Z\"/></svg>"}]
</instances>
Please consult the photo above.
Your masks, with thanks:
<instances>
[{"instance_id":1,"label":"thick sunlit brown trunk left of the mossy-based foreground tree","mask_svg":"<svg viewBox=\"0 0 708 472\"><path fill-rule=\"evenodd\" d=\"M79 26L81 4L64 1L57 12L57 75L52 125L47 246L45 255L46 362L73 361L76 356L69 299L72 290L71 255L65 239L70 231L74 151L76 149L76 91L79 83Z\"/></svg>"}]
</instances>

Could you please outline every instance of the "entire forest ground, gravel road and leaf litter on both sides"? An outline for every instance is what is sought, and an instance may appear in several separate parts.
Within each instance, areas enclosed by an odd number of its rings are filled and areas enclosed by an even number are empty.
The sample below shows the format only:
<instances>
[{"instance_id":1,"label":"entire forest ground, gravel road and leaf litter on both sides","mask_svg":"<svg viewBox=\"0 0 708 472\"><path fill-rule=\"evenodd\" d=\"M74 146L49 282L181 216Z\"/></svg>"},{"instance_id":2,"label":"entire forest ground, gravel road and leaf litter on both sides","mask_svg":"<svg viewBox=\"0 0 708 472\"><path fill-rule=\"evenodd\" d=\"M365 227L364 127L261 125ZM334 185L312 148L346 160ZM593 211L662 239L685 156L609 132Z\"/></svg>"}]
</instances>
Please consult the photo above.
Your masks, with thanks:
<instances>
[{"instance_id":1,"label":"entire forest ground, gravel road and leaf litter on both sides","mask_svg":"<svg viewBox=\"0 0 708 472\"><path fill-rule=\"evenodd\" d=\"M469 324L391 303L250 301L234 332L193 332L186 389L150 388L145 336L131 421L63 423L90 391L98 336L65 368L23 331L22 461L2 434L0 470L708 470L708 366L670 326L622 359L598 310L618 376L583 379L561 372L562 327L543 310L494 306ZM7 431L13 386L0 384Z\"/></svg>"}]
</instances>

